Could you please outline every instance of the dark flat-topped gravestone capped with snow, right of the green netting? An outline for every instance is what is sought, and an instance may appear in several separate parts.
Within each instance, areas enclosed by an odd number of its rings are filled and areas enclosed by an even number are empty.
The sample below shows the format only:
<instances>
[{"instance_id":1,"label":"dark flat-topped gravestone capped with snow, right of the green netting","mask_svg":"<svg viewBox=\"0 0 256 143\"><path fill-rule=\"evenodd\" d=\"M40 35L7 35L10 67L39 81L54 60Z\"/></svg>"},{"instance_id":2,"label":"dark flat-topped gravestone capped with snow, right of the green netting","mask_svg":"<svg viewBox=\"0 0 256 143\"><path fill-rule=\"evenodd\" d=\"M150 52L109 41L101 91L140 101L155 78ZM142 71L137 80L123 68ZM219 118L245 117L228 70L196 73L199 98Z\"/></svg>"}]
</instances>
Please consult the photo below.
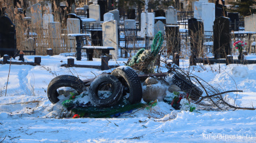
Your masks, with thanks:
<instances>
[{"instance_id":1,"label":"dark flat-topped gravestone capped with snow, right of the green netting","mask_svg":"<svg viewBox=\"0 0 256 143\"><path fill-rule=\"evenodd\" d=\"M168 56L180 53L179 26L165 26L166 48Z\"/></svg>"}]
</instances>

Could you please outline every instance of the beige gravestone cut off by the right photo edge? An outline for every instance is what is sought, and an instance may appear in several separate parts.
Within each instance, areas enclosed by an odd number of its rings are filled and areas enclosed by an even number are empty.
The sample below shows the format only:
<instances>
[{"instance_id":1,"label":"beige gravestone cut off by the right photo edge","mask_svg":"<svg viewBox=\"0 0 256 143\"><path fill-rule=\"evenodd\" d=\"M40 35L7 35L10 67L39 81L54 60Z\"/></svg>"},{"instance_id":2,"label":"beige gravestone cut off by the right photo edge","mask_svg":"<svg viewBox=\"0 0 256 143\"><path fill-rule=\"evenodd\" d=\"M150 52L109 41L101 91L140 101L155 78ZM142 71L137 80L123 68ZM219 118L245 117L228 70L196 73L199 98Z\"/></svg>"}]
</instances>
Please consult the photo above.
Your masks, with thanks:
<instances>
[{"instance_id":1,"label":"beige gravestone cut off by the right photo edge","mask_svg":"<svg viewBox=\"0 0 256 143\"><path fill-rule=\"evenodd\" d=\"M244 17L244 31L256 32L256 14Z\"/></svg>"}]
</instances>

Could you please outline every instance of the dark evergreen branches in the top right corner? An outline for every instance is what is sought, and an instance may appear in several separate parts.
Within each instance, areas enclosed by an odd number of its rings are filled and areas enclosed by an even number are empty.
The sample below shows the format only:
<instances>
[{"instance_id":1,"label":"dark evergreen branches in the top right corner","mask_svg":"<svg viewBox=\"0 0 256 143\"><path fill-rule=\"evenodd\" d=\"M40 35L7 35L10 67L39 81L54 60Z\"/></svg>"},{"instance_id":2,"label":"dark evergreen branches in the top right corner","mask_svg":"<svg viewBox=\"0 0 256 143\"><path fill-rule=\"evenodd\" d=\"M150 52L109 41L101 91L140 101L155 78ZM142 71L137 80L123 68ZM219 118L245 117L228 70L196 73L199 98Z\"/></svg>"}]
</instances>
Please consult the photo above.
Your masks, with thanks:
<instances>
[{"instance_id":1,"label":"dark evergreen branches in the top right corner","mask_svg":"<svg viewBox=\"0 0 256 143\"><path fill-rule=\"evenodd\" d=\"M255 0L239 0L237 2L230 3L236 7L236 10L232 10L240 13L241 15L248 16L252 13L256 13L256 8L252 8L256 4Z\"/></svg>"}]
</instances>

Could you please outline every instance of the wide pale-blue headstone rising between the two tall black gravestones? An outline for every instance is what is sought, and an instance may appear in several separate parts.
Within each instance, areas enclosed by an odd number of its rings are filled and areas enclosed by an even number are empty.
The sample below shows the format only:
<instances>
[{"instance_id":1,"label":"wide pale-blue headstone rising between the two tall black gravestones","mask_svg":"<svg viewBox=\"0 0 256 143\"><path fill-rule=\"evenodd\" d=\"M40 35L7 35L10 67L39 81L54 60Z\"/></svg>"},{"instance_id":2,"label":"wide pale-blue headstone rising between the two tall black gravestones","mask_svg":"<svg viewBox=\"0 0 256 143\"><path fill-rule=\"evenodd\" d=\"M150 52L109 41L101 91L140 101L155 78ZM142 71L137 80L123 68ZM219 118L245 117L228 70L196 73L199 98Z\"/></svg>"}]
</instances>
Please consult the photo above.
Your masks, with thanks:
<instances>
[{"instance_id":1,"label":"wide pale-blue headstone rising between the two tall black gravestones","mask_svg":"<svg viewBox=\"0 0 256 143\"><path fill-rule=\"evenodd\" d=\"M213 24L215 20L215 4L202 4L202 21L204 23L204 31L213 31ZM212 33L205 32L205 35L212 35Z\"/></svg>"}]
</instances>

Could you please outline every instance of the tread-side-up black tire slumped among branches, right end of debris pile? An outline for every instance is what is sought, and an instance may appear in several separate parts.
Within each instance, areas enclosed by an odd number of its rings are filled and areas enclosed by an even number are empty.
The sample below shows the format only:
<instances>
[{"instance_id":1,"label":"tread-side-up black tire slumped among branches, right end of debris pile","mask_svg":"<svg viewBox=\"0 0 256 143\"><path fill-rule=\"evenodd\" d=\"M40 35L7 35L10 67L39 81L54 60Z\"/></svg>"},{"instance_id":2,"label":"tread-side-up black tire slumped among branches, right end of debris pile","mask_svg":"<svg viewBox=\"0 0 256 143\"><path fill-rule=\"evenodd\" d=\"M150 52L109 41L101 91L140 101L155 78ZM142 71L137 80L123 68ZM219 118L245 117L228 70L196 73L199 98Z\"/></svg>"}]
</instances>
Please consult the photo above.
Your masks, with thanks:
<instances>
[{"instance_id":1,"label":"tread-side-up black tire slumped among branches, right end of debris pile","mask_svg":"<svg viewBox=\"0 0 256 143\"><path fill-rule=\"evenodd\" d=\"M198 100L201 95L203 94L203 91L197 87L195 84L193 84L191 81L186 79L183 75L180 75L179 73L172 73L173 79L172 82L176 86L180 87L182 91L185 91L188 93L191 98L191 100Z\"/></svg>"}]
</instances>

